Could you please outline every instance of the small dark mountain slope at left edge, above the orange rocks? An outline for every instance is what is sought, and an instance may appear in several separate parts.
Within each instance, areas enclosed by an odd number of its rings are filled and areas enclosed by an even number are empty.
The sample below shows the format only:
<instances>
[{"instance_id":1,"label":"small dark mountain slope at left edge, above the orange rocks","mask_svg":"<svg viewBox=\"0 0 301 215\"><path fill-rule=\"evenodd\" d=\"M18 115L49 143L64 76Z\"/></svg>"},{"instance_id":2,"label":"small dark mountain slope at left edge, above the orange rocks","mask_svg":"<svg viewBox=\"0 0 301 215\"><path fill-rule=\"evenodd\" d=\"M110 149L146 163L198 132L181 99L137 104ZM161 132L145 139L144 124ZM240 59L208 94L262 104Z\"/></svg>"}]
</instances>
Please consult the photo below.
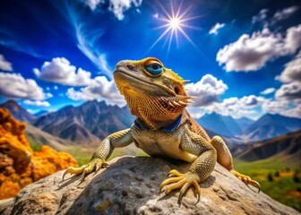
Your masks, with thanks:
<instances>
[{"instance_id":1,"label":"small dark mountain slope at left edge, above the orange rocks","mask_svg":"<svg viewBox=\"0 0 301 215\"><path fill-rule=\"evenodd\" d=\"M32 121L36 117L31 115L26 109L21 107L15 100L7 100L4 103L0 104L0 107L8 109L13 117L16 119L26 122L26 121Z\"/></svg>"}]
</instances>

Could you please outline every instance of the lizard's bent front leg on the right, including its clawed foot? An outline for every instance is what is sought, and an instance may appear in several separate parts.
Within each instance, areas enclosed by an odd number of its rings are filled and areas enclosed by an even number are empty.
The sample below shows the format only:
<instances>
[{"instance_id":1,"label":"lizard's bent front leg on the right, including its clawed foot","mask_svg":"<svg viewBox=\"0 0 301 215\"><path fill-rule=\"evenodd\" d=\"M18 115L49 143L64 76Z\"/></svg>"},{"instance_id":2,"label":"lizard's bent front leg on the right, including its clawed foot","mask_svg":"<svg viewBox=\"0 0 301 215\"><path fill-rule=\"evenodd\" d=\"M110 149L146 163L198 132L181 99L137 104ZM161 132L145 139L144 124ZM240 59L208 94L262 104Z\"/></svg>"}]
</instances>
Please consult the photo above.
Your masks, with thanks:
<instances>
[{"instance_id":1,"label":"lizard's bent front leg on the right, including its clawed foot","mask_svg":"<svg viewBox=\"0 0 301 215\"><path fill-rule=\"evenodd\" d=\"M197 202L199 202L201 196L199 183L211 175L217 160L216 150L210 142L193 132L184 134L180 147L188 153L198 155L198 158L193 161L192 166L185 174L179 173L176 169L171 170L168 174L174 177L163 181L160 185L160 190L166 186L165 193L169 193L172 190L181 188L178 199L180 203L187 189L193 185L197 195Z\"/></svg>"}]
</instances>

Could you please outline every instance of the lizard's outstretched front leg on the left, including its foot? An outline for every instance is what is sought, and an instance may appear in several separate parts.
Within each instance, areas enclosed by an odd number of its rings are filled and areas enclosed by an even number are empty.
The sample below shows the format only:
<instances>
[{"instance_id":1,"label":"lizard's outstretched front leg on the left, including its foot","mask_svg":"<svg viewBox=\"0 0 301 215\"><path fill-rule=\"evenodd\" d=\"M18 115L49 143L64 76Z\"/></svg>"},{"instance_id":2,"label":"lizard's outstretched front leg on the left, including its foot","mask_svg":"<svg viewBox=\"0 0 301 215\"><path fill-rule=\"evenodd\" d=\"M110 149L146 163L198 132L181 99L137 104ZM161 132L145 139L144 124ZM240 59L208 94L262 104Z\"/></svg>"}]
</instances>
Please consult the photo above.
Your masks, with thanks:
<instances>
[{"instance_id":1,"label":"lizard's outstretched front leg on the left, including its foot","mask_svg":"<svg viewBox=\"0 0 301 215\"><path fill-rule=\"evenodd\" d=\"M80 168L67 168L64 172L63 180L66 174L71 173L76 175L82 174L81 181L83 181L86 174L89 174L93 170L98 171L99 168L107 167L106 160L115 148L125 147L132 142L133 137L130 128L110 134L100 142L99 147L94 151L88 164L82 165Z\"/></svg>"}]
</instances>

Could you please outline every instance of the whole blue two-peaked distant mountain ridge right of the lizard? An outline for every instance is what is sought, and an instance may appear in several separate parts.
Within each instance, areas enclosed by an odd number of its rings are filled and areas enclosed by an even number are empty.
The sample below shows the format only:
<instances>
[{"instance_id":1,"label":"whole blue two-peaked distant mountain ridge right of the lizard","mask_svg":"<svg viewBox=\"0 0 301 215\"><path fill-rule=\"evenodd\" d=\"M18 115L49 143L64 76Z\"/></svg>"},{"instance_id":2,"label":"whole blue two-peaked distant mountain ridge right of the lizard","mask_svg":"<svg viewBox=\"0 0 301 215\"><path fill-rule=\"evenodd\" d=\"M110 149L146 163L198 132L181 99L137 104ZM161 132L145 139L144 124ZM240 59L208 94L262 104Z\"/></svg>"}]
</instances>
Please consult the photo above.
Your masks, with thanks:
<instances>
[{"instance_id":1,"label":"whole blue two-peaked distant mountain ridge right of the lizard","mask_svg":"<svg viewBox=\"0 0 301 215\"><path fill-rule=\"evenodd\" d=\"M242 142L267 140L301 129L301 119L271 114L253 121L246 117L235 119L212 113L196 121L206 129L220 135L240 138Z\"/></svg>"}]
</instances>

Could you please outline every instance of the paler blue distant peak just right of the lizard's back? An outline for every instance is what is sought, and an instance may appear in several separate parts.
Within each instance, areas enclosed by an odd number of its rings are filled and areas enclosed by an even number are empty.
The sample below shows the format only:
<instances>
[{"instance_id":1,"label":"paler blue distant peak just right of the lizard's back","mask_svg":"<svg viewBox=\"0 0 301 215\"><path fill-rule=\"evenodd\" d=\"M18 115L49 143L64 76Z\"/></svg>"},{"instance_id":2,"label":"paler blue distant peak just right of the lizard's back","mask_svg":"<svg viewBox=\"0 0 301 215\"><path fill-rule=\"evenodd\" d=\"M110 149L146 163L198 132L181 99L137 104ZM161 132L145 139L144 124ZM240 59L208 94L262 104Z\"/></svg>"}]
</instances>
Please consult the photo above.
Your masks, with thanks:
<instances>
[{"instance_id":1,"label":"paler blue distant peak just right of the lizard's back","mask_svg":"<svg viewBox=\"0 0 301 215\"><path fill-rule=\"evenodd\" d=\"M234 119L231 116L221 116L216 113L206 114L196 121L215 133L227 136L239 135L243 133L246 126L254 123L253 120L246 117Z\"/></svg>"}]
</instances>

